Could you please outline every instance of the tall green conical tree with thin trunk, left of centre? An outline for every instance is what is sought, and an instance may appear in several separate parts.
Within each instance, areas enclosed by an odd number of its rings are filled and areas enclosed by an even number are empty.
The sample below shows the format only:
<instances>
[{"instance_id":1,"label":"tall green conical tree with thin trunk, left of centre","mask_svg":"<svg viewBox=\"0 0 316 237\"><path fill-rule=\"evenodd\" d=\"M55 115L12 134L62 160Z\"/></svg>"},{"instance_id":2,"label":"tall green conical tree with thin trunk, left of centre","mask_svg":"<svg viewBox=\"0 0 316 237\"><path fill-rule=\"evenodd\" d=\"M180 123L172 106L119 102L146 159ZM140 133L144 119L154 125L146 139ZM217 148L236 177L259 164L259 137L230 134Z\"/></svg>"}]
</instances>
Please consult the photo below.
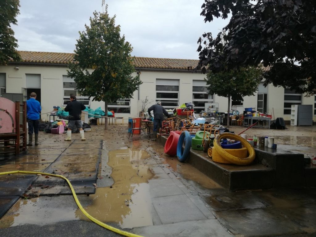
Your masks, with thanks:
<instances>
[{"instance_id":1,"label":"tall green conical tree with thin trunk, left of centre","mask_svg":"<svg viewBox=\"0 0 316 237\"><path fill-rule=\"evenodd\" d=\"M107 105L123 98L132 98L142 83L139 76L132 77L134 66L131 58L132 47L120 36L120 26L115 26L115 15L109 17L107 5L105 13L94 12L90 17L90 27L79 32L74 62L70 64L68 76L74 78L76 89L83 96L105 102ZM88 69L93 69L89 72ZM107 130L107 118L105 119Z\"/></svg>"}]
</instances>

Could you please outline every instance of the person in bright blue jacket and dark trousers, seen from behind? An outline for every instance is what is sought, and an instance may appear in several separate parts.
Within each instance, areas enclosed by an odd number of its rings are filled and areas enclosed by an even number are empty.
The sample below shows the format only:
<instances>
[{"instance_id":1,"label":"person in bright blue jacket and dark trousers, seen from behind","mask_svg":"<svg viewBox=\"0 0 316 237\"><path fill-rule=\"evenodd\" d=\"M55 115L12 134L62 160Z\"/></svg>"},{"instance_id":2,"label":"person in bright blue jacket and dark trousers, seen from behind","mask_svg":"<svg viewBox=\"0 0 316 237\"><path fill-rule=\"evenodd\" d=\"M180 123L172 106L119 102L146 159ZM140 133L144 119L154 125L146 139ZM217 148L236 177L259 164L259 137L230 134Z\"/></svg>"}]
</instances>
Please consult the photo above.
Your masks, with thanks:
<instances>
[{"instance_id":1,"label":"person in bright blue jacket and dark trousers, seen from behind","mask_svg":"<svg viewBox=\"0 0 316 237\"><path fill-rule=\"evenodd\" d=\"M35 134L35 146L39 144L40 112L42 108L40 102L36 100L36 93L32 92L30 99L26 101L27 125L28 125L28 143L27 146L33 146L33 132Z\"/></svg>"}]
</instances>

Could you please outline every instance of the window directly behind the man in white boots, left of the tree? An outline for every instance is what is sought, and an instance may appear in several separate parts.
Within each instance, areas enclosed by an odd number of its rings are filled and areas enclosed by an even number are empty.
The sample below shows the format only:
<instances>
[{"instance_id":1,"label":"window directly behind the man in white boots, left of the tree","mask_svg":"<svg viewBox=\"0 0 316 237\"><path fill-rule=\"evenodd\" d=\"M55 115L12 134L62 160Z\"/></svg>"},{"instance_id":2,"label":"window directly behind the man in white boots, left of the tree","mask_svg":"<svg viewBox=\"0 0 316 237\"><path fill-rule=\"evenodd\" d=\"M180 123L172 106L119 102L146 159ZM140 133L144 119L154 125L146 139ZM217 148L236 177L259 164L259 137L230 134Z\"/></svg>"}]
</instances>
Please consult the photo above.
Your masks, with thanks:
<instances>
[{"instance_id":1,"label":"window directly behind the man in white boots, left of the tree","mask_svg":"<svg viewBox=\"0 0 316 237\"><path fill-rule=\"evenodd\" d=\"M90 100L88 96L82 96L80 91L76 90L76 82L73 78L63 75L63 106L66 106L70 102L70 94L74 94L77 100L80 100L85 106L90 106Z\"/></svg>"}]
</instances>

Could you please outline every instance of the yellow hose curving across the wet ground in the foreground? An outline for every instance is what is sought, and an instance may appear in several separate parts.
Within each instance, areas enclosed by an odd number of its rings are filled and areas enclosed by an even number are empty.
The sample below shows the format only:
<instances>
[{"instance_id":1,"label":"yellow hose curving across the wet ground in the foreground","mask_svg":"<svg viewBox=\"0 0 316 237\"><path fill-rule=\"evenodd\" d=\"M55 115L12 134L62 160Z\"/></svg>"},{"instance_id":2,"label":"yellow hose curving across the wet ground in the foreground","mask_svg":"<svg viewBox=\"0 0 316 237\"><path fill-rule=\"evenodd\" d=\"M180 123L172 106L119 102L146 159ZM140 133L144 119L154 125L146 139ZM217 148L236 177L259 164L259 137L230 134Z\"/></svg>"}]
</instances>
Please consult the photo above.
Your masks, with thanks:
<instances>
[{"instance_id":1,"label":"yellow hose curving across the wet ground in the foreground","mask_svg":"<svg viewBox=\"0 0 316 237\"><path fill-rule=\"evenodd\" d=\"M55 177L59 177L59 178L62 178L62 179L65 179L71 189L71 192L72 192L72 195L74 196L74 199L76 201L76 204L78 205L79 209L82 211L82 213L87 216L91 221L93 221L94 223L97 223L98 225L108 229L108 230L111 230L115 233L118 233L118 234L121 234L121 235L124 235L124 236L131 236L131 237L143 237L141 235L137 235L137 234L132 234L132 233L129 233L129 232L126 232L126 231L123 231L123 230L120 230L120 229L117 229L117 228L114 228L112 226L109 226L103 222L100 222L98 221L97 219L95 219L93 216L91 216L88 212L86 212L82 205L80 204L78 198L77 198L77 195L76 195L76 192L74 190L74 188L72 187L72 185L70 184L70 181L65 178L64 176L62 175L58 175L58 174L51 174L51 173L42 173L42 172L33 172L33 171L21 171L21 170L16 170L16 171L10 171L10 172L2 172L0 173L0 175L3 175L3 174L14 174L14 173L31 173L31 174L44 174L44 175L50 175L50 176L55 176Z\"/></svg>"}]
</instances>

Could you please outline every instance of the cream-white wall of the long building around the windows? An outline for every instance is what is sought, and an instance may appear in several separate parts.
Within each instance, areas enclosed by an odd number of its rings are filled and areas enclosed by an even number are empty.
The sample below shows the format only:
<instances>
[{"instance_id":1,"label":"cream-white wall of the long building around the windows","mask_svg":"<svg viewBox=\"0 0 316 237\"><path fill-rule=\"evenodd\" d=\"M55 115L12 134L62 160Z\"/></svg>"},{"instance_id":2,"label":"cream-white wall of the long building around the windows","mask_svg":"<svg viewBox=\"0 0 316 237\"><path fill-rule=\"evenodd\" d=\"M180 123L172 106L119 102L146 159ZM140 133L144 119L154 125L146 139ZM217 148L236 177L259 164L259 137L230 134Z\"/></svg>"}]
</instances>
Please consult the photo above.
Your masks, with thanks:
<instances>
[{"instance_id":1,"label":"cream-white wall of the long building around the windows","mask_svg":"<svg viewBox=\"0 0 316 237\"><path fill-rule=\"evenodd\" d=\"M63 75L67 75L65 67L45 67L45 66L0 66L0 72L6 73L6 91L7 93L21 93L21 88L26 87L26 74L41 75L41 106L42 113L51 112L53 106L62 107L63 103ZM137 74L134 73L133 76ZM179 105L192 101L192 81L204 80L205 75L200 73L187 72L150 72L141 71L140 80L143 82L139 86L139 91L134 92L131 99L131 114L116 114L116 117L123 117L127 123L127 118L138 117L141 110L142 101L148 96L149 106L156 100L156 79L178 79L179 80ZM267 110L272 118L283 117L284 120L290 120L290 115L283 115L284 89L283 87L274 87L272 84L267 88ZM214 95L214 102L219 103L219 112L227 111L228 99ZM303 97L302 104L312 104L314 109L314 96ZM91 101L90 107L96 109L101 107L104 110L104 102ZM244 108L257 107L257 93L254 96L244 98ZM44 115L43 119L49 117ZM126 119L126 120L125 120ZM316 121L316 116L313 116Z\"/></svg>"}]
</instances>

